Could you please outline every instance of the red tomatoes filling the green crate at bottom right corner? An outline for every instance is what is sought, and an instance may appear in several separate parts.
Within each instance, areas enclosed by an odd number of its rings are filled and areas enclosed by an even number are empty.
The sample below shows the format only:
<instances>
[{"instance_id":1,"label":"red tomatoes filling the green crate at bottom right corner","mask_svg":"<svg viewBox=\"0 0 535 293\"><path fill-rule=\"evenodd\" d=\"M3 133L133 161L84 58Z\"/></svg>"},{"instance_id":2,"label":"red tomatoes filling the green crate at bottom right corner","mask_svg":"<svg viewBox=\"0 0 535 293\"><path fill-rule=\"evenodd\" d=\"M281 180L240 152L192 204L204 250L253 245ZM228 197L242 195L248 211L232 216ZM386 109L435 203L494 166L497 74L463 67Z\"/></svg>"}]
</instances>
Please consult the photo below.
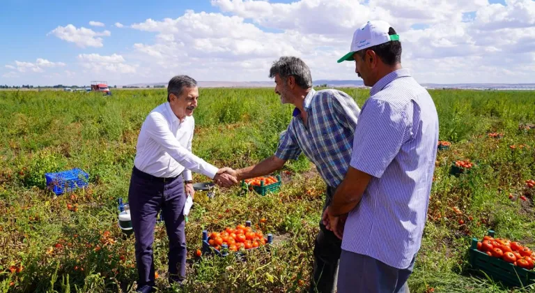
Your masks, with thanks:
<instances>
[{"instance_id":1,"label":"red tomatoes filling the green crate at bottom right corner","mask_svg":"<svg viewBox=\"0 0 535 293\"><path fill-rule=\"evenodd\" d=\"M520 243L508 239L485 236L483 241L477 243L477 250L524 269L534 269L535 266L535 253L527 246L521 246Z\"/></svg>"}]
</instances>

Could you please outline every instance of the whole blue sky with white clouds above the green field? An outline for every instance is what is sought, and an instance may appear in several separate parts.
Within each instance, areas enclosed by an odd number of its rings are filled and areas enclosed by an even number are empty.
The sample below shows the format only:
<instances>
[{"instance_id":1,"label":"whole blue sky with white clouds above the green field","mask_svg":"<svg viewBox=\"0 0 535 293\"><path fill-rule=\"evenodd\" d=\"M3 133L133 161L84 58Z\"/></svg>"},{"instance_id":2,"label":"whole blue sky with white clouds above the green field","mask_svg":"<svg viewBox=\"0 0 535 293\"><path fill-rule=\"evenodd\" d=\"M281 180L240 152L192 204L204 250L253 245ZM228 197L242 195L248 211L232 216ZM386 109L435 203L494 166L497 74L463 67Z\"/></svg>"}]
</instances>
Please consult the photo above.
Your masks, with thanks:
<instances>
[{"instance_id":1,"label":"whole blue sky with white clouds above the green field","mask_svg":"<svg viewBox=\"0 0 535 293\"><path fill-rule=\"evenodd\" d=\"M422 82L531 81L533 0L431 1L3 0L0 84L132 84L179 73L265 81L284 54L307 61L314 79L355 79L352 64L332 60L378 11L401 32L403 60ZM94 36L79 34L82 27ZM504 32L514 39L501 40ZM520 43L521 62L504 61Z\"/></svg>"}]
</instances>

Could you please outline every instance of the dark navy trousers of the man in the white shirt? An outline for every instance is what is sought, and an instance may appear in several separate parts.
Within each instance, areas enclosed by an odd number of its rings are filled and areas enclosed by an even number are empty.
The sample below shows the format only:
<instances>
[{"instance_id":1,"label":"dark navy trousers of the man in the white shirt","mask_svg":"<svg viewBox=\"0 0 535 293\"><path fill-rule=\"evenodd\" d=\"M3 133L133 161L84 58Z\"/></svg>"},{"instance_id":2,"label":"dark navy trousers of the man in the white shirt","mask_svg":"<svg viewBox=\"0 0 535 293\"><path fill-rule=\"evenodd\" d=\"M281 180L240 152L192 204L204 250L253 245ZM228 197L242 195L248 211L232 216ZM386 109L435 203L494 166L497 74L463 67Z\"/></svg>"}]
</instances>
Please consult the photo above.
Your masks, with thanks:
<instances>
[{"instance_id":1,"label":"dark navy trousers of the man in the white shirt","mask_svg":"<svg viewBox=\"0 0 535 293\"><path fill-rule=\"evenodd\" d=\"M132 228L136 236L138 286L154 286L153 242L156 215L162 209L169 237L169 276L183 280L186 276L186 237L184 204L186 202L182 176L158 179L134 167L128 190Z\"/></svg>"}]
</instances>

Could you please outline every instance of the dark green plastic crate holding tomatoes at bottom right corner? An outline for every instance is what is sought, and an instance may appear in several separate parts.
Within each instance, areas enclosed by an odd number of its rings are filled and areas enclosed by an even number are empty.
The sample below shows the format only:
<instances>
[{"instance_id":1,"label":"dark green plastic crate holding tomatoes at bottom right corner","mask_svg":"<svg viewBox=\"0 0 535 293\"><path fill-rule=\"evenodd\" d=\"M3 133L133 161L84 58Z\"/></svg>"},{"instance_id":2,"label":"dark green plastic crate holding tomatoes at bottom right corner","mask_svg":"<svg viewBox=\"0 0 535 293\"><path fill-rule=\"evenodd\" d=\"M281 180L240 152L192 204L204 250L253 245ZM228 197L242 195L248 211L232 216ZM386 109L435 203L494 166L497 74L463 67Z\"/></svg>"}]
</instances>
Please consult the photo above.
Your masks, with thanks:
<instances>
[{"instance_id":1,"label":"dark green plastic crate holding tomatoes at bottom right corner","mask_svg":"<svg viewBox=\"0 0 535 293\"><path fill-rule=\"evenodd\" d=\"M488 235L494 237L494 231L488 230ZM476 238L472 238L470 247L470 264L474 269L479 269L494 280L501 281L504 285L525 287L535 283L535 271L522 269L519 266L504 262L496 257L491 257L477 250Z\"/></svg>"}]
</instances>

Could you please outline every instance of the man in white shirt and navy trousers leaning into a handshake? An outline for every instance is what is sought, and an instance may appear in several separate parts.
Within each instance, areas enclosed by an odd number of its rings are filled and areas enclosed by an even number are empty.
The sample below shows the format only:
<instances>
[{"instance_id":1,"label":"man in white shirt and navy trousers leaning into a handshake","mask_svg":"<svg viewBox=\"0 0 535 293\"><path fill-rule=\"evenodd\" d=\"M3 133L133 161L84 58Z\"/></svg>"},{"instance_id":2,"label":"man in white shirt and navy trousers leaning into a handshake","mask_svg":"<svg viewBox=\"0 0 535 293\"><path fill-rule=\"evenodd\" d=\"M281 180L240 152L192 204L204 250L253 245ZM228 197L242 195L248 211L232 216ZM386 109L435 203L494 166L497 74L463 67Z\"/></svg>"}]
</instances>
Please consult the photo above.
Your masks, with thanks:
<instances>
[{"instance_id":1,"label":"man in white shirt and navy trousers leaning into a handshake","mask_svg":"<svg viewBox=\"0 0 535 293\"><path fill-rule=\"evenodd\" d=\"M169 81L167 103L150 112L141 126L128 191L136 236L138 292L153 292L155 285L152 246L160 209L169 237L169 282L181 283L185 278L183 209L187 195L194 195L192 171L224 187L237 182L192 153L192 114L198 98L197 82L187 75L177 75Z\"/></svg>"}]
</instances>

